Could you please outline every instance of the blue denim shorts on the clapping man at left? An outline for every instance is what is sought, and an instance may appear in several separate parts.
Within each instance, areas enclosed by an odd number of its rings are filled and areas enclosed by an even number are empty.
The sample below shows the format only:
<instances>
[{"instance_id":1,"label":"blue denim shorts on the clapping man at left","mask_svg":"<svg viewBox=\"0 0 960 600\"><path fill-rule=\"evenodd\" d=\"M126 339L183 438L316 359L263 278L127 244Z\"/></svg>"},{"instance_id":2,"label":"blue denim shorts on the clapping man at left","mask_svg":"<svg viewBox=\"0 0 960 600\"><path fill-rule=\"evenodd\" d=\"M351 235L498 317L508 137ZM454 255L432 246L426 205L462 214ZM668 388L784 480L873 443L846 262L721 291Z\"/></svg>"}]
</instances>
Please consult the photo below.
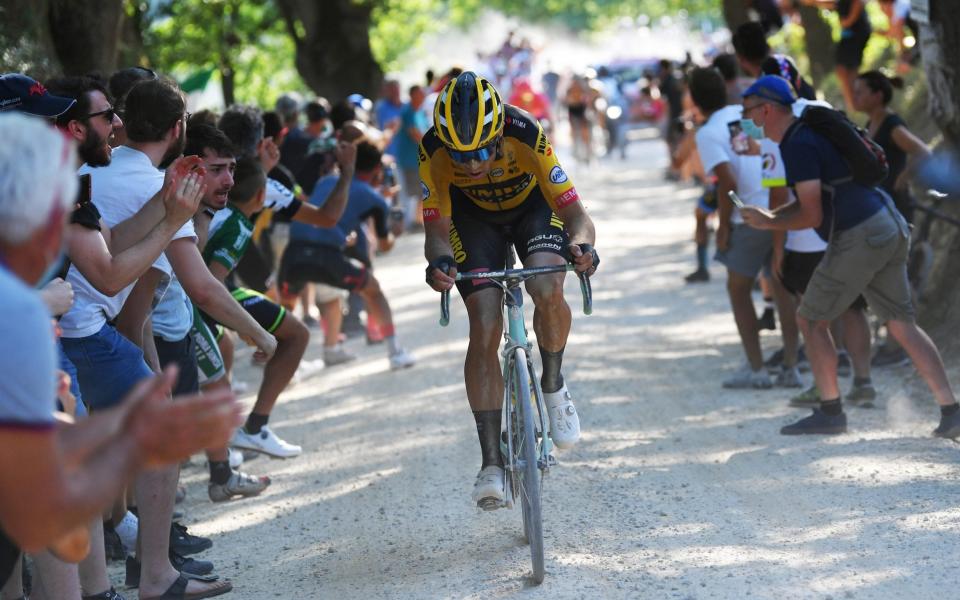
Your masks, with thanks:
<instances>
[{"instance_id":1,"label":"blue denim shorts on the clapping man at left","mask_svg":"<svg viewBox=\"0 0 960 600\"><path fill-rule=\"evenodd\" d=\"M62 338L61 343L91 411L120 404L133 386L153 375L143 351L113 325L84 338Z\"/></svg>"}]
</instances>

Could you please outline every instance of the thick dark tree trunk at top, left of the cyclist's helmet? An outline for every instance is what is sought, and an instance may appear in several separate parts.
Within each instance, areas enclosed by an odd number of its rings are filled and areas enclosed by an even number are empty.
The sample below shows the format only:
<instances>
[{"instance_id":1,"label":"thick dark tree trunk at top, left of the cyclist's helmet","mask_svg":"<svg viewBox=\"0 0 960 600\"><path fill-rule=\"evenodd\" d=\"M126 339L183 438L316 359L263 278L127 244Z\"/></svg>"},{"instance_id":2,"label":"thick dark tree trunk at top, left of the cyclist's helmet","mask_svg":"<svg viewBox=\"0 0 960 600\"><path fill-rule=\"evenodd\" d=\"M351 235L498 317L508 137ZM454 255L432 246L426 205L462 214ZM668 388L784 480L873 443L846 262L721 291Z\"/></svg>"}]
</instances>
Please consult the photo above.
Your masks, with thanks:
<instances>
[{"instance_id":1,"label":"thick dark tree trunk at top, left of the cyclist's helmet","mask_svg":"<svg viewBox=\"0 0 960 600\"><path fill-rule=\"evenodd\" d=\"M370 2L277 0L297 48L297 71L310 88L336 101L376 95L383 79L370 49Z\"/></svg>"}]
</instances>

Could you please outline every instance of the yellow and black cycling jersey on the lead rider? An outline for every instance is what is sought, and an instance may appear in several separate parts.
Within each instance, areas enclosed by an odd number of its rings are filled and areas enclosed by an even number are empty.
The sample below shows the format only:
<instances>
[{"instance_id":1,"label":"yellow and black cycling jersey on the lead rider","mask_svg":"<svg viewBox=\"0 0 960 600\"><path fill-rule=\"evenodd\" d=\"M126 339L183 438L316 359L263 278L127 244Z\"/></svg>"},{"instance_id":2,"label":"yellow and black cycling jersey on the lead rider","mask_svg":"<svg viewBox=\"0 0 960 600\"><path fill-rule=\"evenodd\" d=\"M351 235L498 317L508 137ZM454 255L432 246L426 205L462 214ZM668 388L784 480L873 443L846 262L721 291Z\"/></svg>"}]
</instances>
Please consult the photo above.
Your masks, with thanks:
<instances>
[{"instance_id":1,"label":"yellow and black cycling jersey on the lead rider","mask_svg":"<svg viewBox=\"0 0 960 600\"><path fill-rule=\"evenodd\" d=\"M420 186L423 220L450 217L452 202L466 202L491 216L525 206L527 201L546 200L557 210L579 200L537 122L528 113L506 107L503 143L487 175L469 176L450 159L431 127L420 143Z\"/></svg>"}]
</instances>

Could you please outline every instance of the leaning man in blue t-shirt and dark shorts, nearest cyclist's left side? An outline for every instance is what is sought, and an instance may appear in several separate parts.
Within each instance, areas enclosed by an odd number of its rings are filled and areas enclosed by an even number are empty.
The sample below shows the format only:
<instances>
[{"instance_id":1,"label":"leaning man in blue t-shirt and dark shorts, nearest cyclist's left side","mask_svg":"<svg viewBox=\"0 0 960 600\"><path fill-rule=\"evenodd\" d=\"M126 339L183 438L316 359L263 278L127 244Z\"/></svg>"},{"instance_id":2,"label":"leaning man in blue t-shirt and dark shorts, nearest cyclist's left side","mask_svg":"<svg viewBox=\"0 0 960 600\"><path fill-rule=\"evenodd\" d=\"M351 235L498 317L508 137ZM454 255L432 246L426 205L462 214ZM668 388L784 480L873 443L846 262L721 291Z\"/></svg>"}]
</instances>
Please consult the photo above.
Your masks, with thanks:
<instances>
[{"instance_id":1,"label":"leaning man in blue t-shirt and dark shorts, nearest cyclist's left side","mask_svg":"<svg viewBox=\"0 0 960 600\"><path fill-rule=\"evenodd\" d=\"M355 291L363 298L367 311L380 325L390 357L391 369L413 366L412 354L400 347L393 325L393 315L376 277L362 262L346 255L348 236L373 217L381 251L393 246L387 227L390 207L371 185L382 174L383 155L376 146L361 142L357 146L356 175L350 183L350 195L340 221L334 227L312 227L290 224L290 243L280 261L280 286L285 293L299 294L307 282L326 283ZM317 182L310 203L321 206L336 186L338 175Z\"/></svg>"}]
</instances>

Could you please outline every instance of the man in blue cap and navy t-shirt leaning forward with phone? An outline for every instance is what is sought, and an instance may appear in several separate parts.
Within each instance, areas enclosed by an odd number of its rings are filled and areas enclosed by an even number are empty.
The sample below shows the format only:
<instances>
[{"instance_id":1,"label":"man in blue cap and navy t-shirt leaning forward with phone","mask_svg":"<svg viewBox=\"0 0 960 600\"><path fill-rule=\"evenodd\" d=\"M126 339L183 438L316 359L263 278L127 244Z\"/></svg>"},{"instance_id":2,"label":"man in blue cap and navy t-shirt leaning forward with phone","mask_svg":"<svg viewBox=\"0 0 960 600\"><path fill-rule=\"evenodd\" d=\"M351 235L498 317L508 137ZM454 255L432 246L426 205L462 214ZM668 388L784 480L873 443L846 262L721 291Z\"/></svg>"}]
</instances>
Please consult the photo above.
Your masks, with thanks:
<instances>
[{"instance_id":1,"label":"man in blue cap and navy t-shirt leaning forward with phone","mask_svg":"<svg viewBox=\"0 0 960 600\"><path fill-rule=\"evenodd\" d=\"M744 119L752 119L766 137L779 142L787 185L797 198L774 211L745 207L744 221L757 229L814 227L828 243L797 317L820 391L820 407L780 433L846 431L829 324L862 293L910 355L940 405L941 420L933 434L960 437L960 406L943 361L915 321L907 280L910 230L889 197L854 181L837 148L794 116L795 100L787 80L775 75L761 77L743 93Z\"/></svg>"}]
</instances>

